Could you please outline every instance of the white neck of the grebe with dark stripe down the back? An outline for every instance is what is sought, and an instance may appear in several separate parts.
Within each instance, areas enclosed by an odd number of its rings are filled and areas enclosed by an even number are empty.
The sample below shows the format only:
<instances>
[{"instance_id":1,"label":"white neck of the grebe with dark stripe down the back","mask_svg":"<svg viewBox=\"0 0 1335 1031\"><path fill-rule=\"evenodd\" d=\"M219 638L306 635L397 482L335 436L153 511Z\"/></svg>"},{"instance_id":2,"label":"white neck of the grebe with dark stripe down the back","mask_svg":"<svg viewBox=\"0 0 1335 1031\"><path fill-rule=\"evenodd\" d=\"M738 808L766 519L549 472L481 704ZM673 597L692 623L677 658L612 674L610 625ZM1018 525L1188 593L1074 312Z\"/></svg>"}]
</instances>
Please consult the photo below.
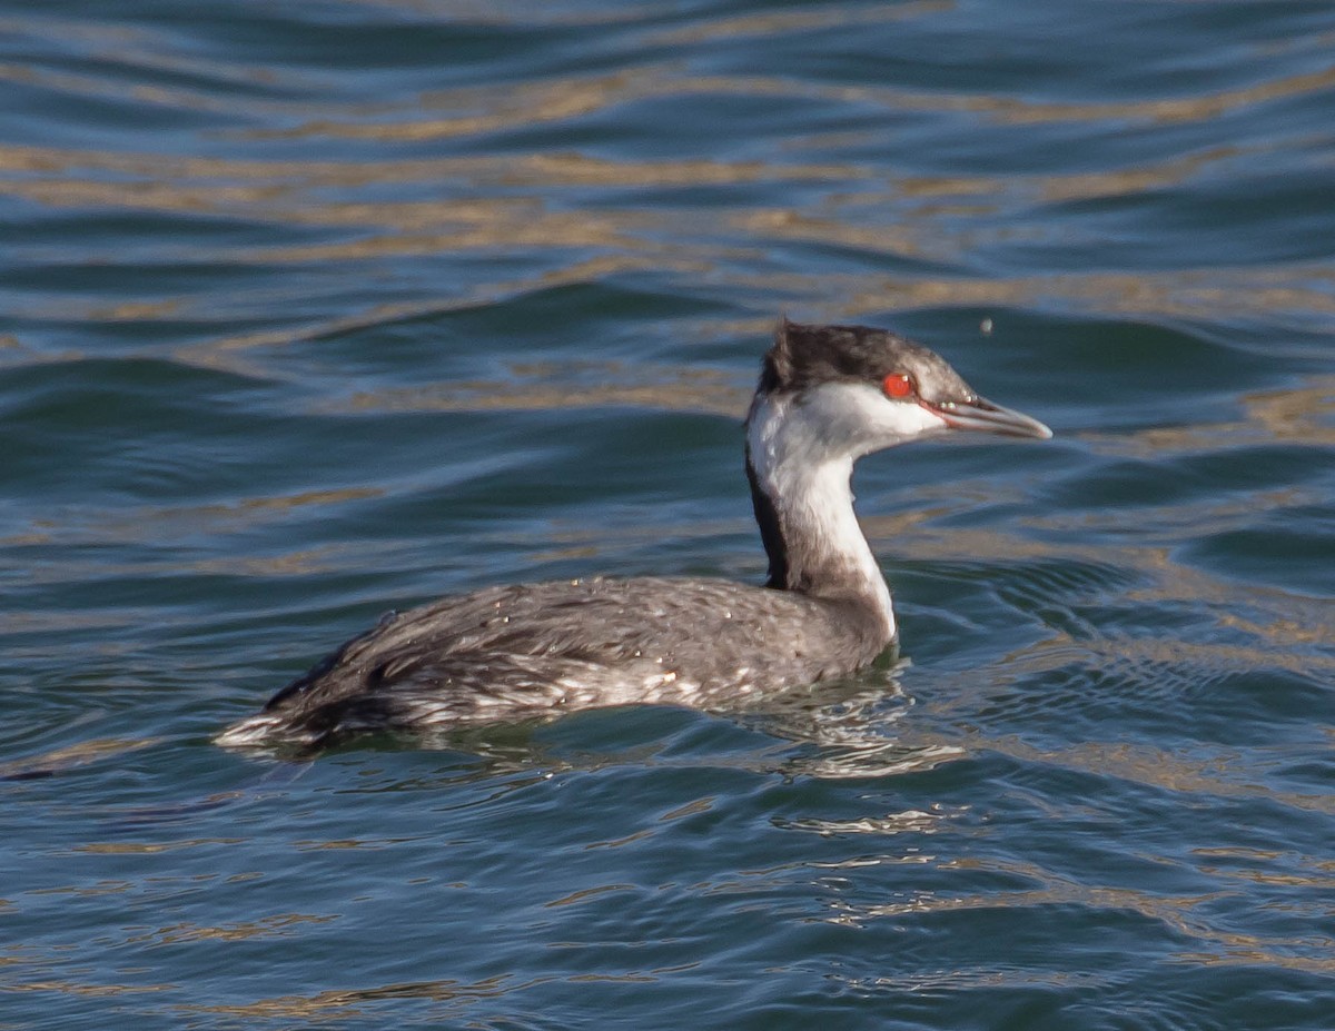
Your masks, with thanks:
<instances>
[{"instance_id":1,"label":"white neck of the grebe with dark stripe down the back","mask_svg":"<svg viewBox=\"0 0 1335 1031\"><path fill-rule=\"evenodd\" d=\"M818 413L757 397L746 427L746 475L769 556L768 586L850 604L894 638L881 566L853 511L853 459L834 449Z\"/></svg>"}]
</instances>

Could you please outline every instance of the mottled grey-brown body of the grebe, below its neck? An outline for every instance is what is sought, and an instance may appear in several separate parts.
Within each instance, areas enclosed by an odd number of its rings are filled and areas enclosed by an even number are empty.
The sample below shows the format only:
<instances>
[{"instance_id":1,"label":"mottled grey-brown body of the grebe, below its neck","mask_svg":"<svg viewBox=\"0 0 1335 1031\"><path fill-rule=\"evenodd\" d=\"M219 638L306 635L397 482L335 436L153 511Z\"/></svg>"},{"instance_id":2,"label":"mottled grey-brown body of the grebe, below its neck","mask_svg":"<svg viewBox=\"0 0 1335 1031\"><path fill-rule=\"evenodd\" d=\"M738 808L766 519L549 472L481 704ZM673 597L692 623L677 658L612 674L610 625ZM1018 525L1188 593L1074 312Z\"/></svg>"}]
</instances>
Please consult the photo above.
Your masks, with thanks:
<instances>
[{"instance_id":1,"label":"mottled grey-brown body of the grebe, below its neck","mask_svg":"<svg viewBox=\"0 0 1335 1031\"><path fill-rule=\"evenodd\" d=\"M884 648L846 604L726 580L642 577L489 588L387 616L279 692L252 729L466 725L631 702L718 705L806 684Z\"/></svg>"}]
</instances>

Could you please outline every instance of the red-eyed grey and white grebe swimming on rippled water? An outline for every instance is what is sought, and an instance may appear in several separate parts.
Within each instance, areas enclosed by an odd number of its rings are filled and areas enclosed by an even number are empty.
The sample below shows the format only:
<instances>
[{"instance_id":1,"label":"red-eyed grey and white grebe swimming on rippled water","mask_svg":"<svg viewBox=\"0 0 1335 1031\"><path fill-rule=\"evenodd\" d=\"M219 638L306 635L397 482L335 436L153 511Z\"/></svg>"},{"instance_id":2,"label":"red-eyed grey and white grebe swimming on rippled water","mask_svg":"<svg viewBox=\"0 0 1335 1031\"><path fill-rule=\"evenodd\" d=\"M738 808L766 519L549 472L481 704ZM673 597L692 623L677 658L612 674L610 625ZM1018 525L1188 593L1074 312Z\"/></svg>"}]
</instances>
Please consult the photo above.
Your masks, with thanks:
<instances>
[{"instance_id":1,"label":"red-eyed grey and white grebe swimming on rippled water","mask_svg":"<svg viewBox=\"0 0 1335 1031\"><path fill-rule=\"evenodd\" d=\"M896 640L890 592L853 513L853 462L957 430L1052 435L902 337L785 319L746 415L765 586L598 577L390 613L218 741L322 747L598 705L709 708L850 673Z\"/></svg>"}]
</instances>

